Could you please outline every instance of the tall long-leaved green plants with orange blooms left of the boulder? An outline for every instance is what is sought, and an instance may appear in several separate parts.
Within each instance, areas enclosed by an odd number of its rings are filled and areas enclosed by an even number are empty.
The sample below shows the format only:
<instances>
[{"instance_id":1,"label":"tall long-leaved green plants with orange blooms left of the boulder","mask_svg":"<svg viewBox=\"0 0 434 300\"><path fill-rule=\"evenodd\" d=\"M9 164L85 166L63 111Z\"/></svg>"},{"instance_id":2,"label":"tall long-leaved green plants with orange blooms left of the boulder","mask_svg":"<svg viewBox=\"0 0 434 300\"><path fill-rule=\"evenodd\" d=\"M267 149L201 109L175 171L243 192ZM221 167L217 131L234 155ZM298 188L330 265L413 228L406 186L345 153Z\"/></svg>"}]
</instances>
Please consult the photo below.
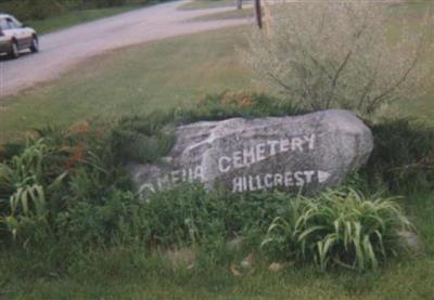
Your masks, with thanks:
<instances>
[{"instance_id":1,"label":"tall long-leaved green plants with orange blooms left of the boulder","mask_svg":"<svg viewBox=\"0 0 434 300\"><path fill-rule=\"evenodd\" d=\"M38 135L0 164L1 242L55 239L65 234L62 224L72 207L130 187L104 133L46 128Z\"/></svg>"}]
</instances>

